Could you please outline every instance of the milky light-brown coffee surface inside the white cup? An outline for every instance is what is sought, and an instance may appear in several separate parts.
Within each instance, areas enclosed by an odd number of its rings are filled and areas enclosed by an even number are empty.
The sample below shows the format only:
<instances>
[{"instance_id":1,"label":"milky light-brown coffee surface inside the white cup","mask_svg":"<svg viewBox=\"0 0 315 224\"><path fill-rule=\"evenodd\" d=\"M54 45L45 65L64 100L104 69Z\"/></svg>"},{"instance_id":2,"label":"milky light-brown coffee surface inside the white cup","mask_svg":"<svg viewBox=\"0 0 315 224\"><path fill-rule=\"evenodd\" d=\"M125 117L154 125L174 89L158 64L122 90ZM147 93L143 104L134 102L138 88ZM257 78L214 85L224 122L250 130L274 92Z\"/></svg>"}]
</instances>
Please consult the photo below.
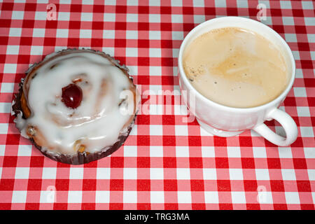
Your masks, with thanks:
<instances>
[{"instance_id":1,"label":"milky light-brown coffee surface inside the white cup","mask_svg":"<svg viewBox=\"0 0 315 224\"><path fill-rule=\"evenodd\" d=\"M183 53L183 69L204 97L237 108L271 102L288 85L286 61L276 45L237 27L195 38Z\"/></svg>"}]
</instances>

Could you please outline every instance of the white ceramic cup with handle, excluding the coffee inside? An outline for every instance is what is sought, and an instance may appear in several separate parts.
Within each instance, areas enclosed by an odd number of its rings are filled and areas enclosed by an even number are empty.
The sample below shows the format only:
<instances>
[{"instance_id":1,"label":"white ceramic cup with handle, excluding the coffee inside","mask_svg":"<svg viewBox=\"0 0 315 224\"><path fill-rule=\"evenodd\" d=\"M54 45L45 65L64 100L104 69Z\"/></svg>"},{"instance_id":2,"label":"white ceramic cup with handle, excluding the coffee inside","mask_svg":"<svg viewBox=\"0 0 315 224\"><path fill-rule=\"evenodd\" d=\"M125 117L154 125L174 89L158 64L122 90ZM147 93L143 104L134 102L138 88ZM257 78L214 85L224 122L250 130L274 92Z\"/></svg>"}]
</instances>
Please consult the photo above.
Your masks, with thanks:
<instances>
[{"instance_id":1,"label":"white ceramic cup with handle, excluding the coffee inside","mask_svg":"<svg viewBox=\"0 0 315 224\"><path fill-rule=\"evenodd\" d=\"M255 31L255 33L265 36L265 38L279 47L283 53L283 57L286 59L289 76L288 86L279 97L261 106L233 108L213 102L195 90L183 69L183 52L197 36L211 29L223 27L239 27ZM216 136L231 137L245 130L253 129L262 137L278 146L288 146L292 144L297 138L297 125L288 113L278 108L290 91L294 79L295 60L286 41L273 29L261 22L248 18L228 16L202 22L184 38L179 50L179 86L181 88L183 101L188 106L189 111L196 116L201 127ZM186 94L183 94L183 92L186 92ZM265 120L272 119L277 120L281 124L286 132L286 137L276 134L264 124Z\"/></svg>"}]
</instances>

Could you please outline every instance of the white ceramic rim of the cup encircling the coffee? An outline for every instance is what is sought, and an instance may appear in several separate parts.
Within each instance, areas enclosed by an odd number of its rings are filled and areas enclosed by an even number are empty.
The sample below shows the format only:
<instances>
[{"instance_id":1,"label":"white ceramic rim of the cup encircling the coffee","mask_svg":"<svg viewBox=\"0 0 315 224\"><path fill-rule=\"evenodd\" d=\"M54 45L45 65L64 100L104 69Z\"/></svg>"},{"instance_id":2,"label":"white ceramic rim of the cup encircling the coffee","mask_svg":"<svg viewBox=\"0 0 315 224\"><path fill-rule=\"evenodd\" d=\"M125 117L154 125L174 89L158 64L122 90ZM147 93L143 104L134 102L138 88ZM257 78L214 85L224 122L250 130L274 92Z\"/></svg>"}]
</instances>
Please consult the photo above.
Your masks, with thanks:
<instances>
[{"instance_id":1,"label":"white ceramic rim of the cup encircling the coffee","mask_svg":"<svg viewBox=\"0 0 315 224\"><path fill-rule=\"evenodd\" d=\"M283 92L281 92L281 94L279 94L278 97L276 97L275 99L273 99L270 102L267 102L266 104L262 104L259 106L246 107L246 108L225 106L223 104L218 104L217 102L214 102L211 99L205 97L203 94L201 94L199 91L197 91L195 89L195 87L193 87L193 85L189 82L189 80L186 76L186 73L183 69L183 59L182 59L183 51L187 45L186 43L196 31L207 26L209 23L216 22L219 20L231 20L231 21L235 21L235 20L243 20L244 21L244 20L246 20L246 21L250 21L250 22L255 23L258 26L266 27L272 34L274 34L274 36L276 36L276 38L279 39L281 44L286 49L286 51L288 53L288 57L290 58L290 63L292 64L292 73L290 73L290 81L288 82L286 89L283 90ZM244 27L244 29L247 29L247 28ZM181 43L181 47L179 48L178 64L179 64L179 76L181 76L181 78L183 79L183 82L186 84L186 86L188 86L188 88L190 90L194 90L195 94L197 94L199 97L201 97L204 101L208 102L209 104L217 106L221 109L235 110L238 112L253 112L253 111L260 111L263 109L268 109L270 106L276 104L277 102L280 102L281 99L284 99L286 97L286 95L290 91L291 87L293 86L293 83L295 80L295 59L293 57L292 50L290 50L290 47L288 46L288 43L286 43L286 41L276 31L274 31L274 29L268 27L267 25L263 24L262 22L258 22L257 20L252 20L250 18L243 18L243 17L238 17L238 16L224 16L224 17L220 17L220 18L213 18L213 19L210 19L210 20L207 20L207 21L200 23L200 25L197 25L197 27L194 27L192 30L190 30L189 33L186 35L186 37L183 39L183 42Z\"/></svg>"}]
</instances>

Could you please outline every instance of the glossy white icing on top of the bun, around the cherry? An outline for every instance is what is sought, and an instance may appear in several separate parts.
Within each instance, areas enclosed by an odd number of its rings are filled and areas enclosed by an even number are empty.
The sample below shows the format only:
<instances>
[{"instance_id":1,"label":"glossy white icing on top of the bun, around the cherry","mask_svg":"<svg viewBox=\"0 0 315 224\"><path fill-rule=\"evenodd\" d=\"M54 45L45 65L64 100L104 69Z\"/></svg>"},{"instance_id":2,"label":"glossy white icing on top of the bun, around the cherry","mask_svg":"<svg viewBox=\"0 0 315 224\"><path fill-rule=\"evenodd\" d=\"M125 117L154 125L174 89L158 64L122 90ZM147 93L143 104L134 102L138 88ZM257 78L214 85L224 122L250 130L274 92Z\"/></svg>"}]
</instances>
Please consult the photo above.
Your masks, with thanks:
<instances>
[{"instance_id":1,"label":"glossy white icing on top of the bun, around the cherry","mask_svg":"<svg viewBox=\"0 0 315 224\"><path fill-rule=\"evenodd\" d=\"M62 100L62 88L70 84L83 92L75 109ZM136 92L127 69L109 55L64 50L29 71L23 94L31 114L18 113L15 123L23 137L48 153L95 153L127 134L137 112Z\"/></svg>"}]
</instances>

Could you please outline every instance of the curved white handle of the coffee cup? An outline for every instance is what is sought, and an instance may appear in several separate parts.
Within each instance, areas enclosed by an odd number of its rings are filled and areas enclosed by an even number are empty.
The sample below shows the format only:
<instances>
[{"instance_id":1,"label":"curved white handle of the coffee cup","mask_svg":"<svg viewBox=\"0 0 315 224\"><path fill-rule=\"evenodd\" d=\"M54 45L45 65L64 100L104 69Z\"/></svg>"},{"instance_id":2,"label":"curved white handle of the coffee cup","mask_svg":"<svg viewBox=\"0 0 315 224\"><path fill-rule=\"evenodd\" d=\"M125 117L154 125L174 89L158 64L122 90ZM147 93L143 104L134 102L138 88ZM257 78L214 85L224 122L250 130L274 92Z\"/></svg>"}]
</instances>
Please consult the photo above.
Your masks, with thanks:
<instances>
[{"instance_id":1,"label":"curved white handle of the coffee cup","mask_svg":"<svg viewBox=\"0 0 315 224\"><path fill-rule=\"evenodd\" d=\"M278 121L286 132L286 137L276 134L264 123L254 127L253 130L277 146L289 146L293 144L297 138L297 126L293 118L291 118L288 113L279 109L271 111L267 118Z\"/></svg>"}]
</instances>

